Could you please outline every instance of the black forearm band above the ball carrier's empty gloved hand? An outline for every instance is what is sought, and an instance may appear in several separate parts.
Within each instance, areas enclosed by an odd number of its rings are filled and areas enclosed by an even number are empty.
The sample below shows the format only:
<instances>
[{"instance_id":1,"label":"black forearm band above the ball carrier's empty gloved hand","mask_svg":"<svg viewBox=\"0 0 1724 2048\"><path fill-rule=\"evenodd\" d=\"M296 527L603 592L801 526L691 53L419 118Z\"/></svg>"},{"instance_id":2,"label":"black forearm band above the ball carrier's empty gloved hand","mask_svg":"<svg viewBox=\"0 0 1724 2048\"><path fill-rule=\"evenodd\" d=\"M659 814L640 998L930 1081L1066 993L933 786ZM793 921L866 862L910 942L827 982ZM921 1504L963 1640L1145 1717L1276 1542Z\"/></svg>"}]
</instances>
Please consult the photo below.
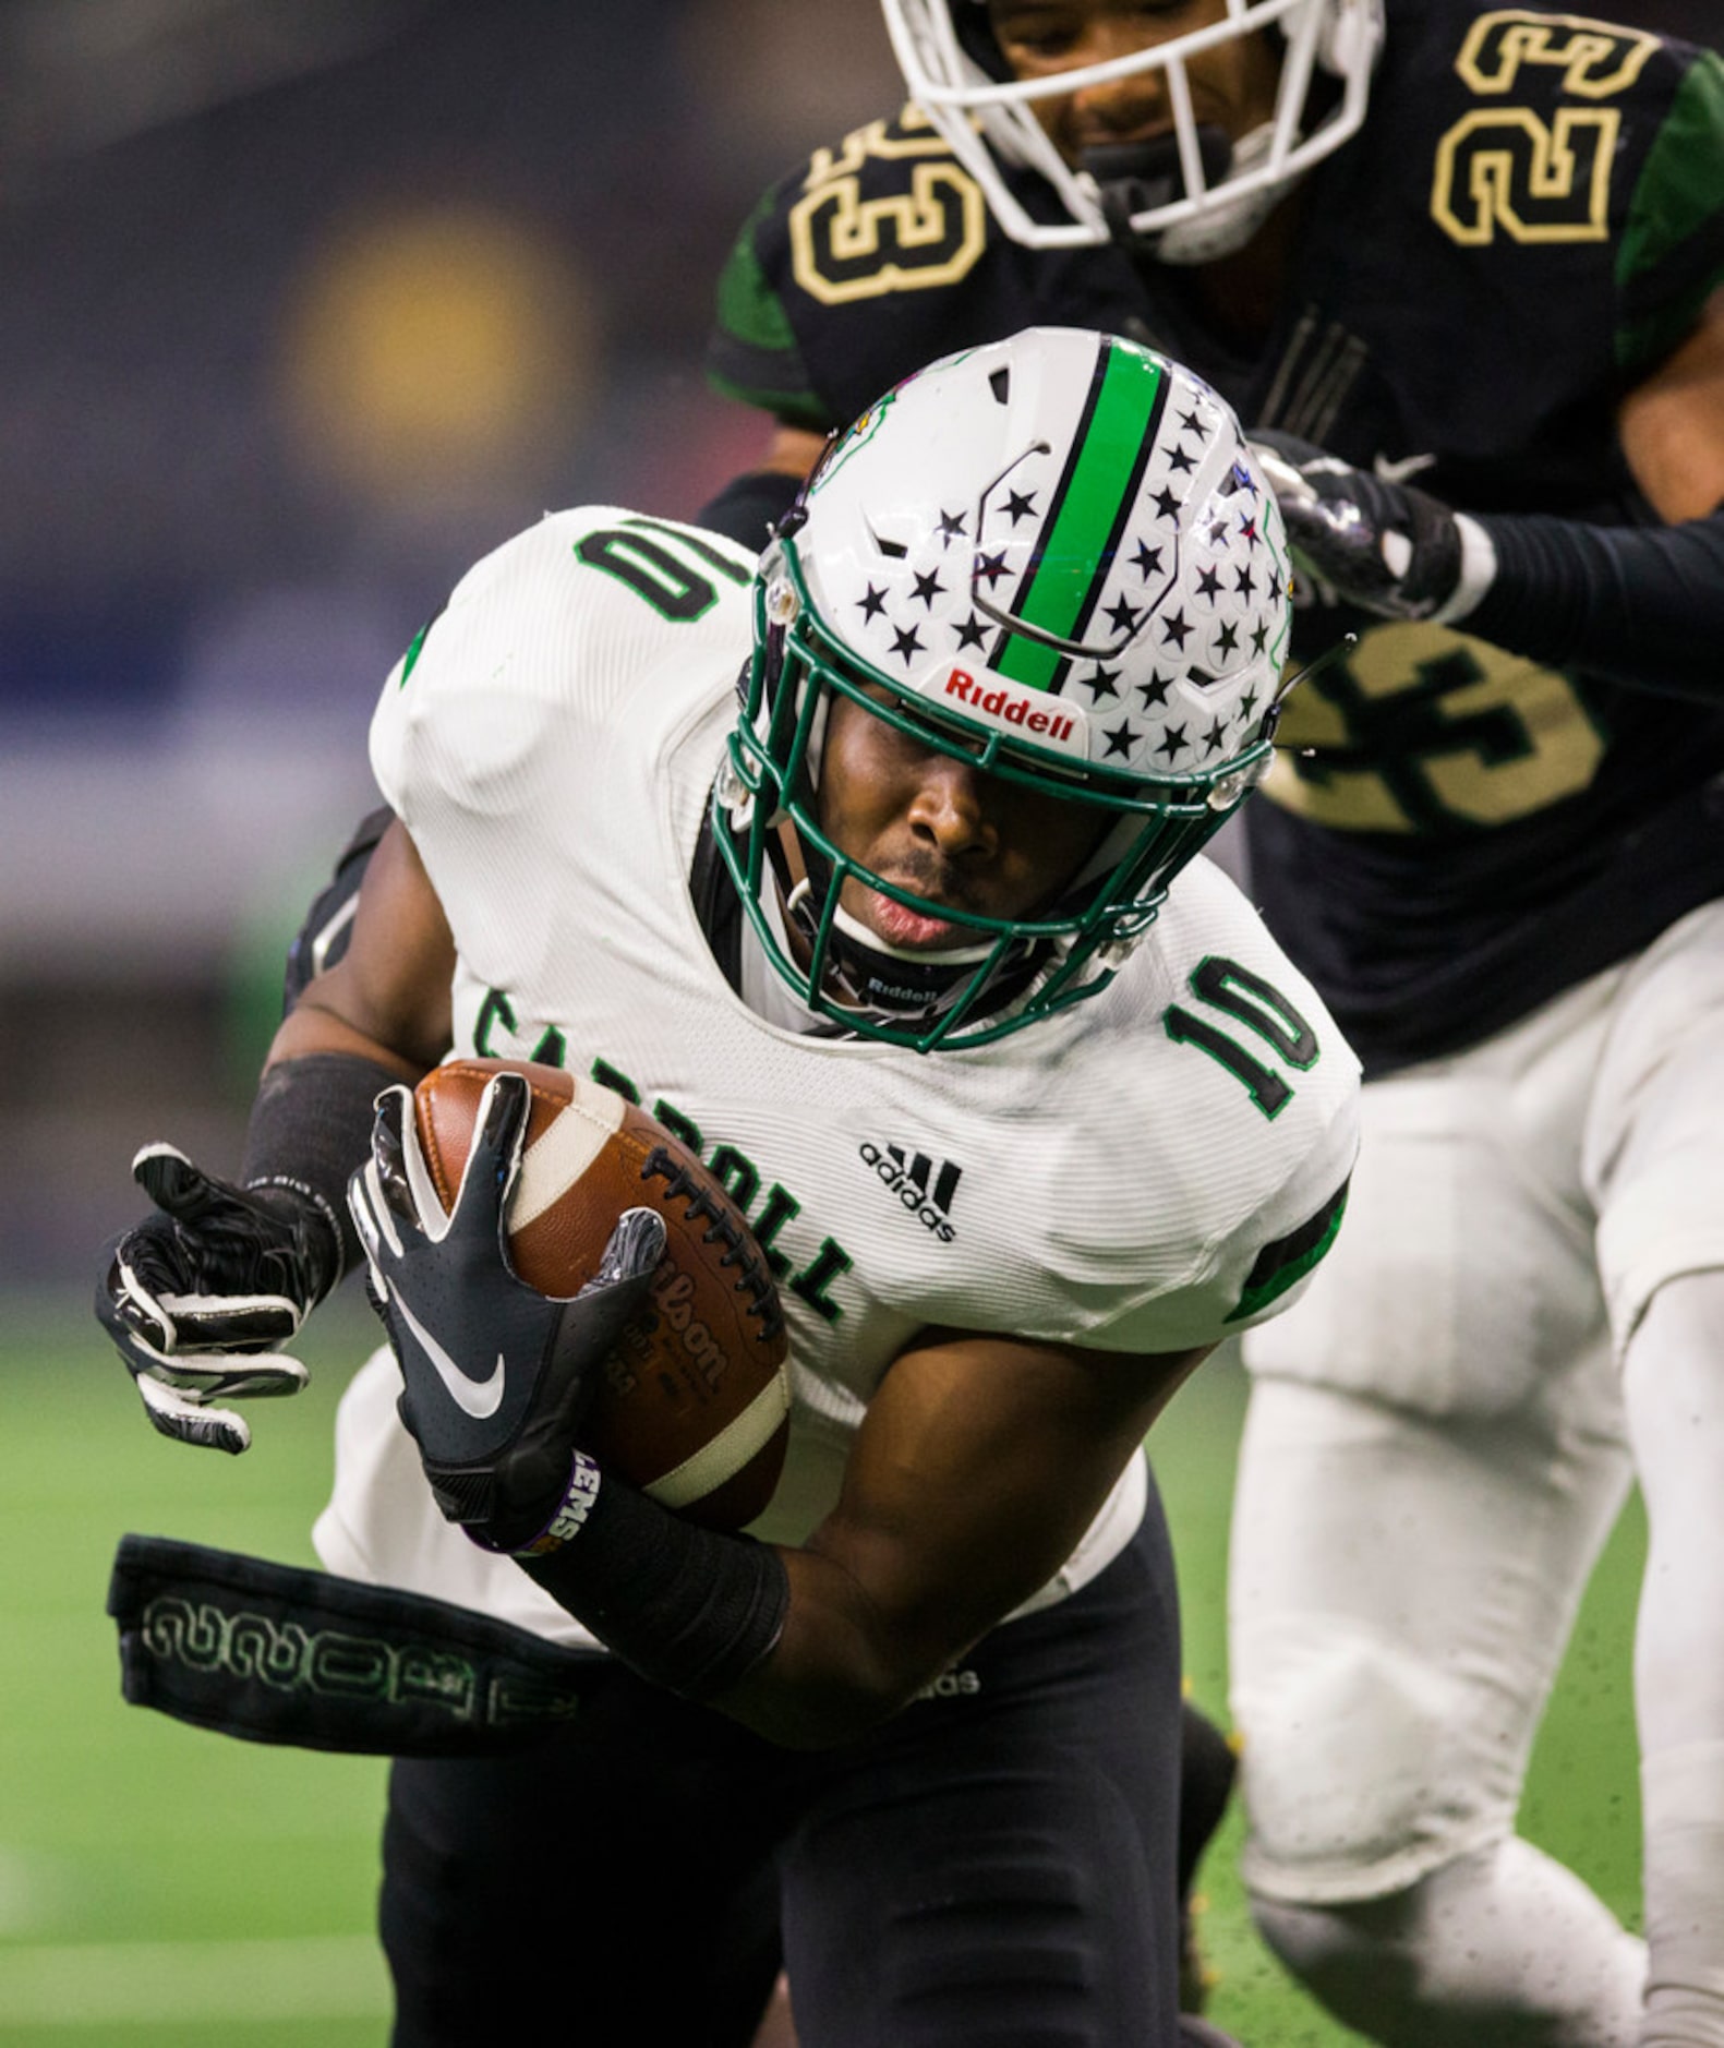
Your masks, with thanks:
<instances>
[{"instance_id":1,"label":"black forearm band above the ball carrier's empty gloved hand","mask_svg":"<svg viewBox=\"0 0 1724 2048\"><path fill-rule=\"evenodd\" d=\"M391 1067L358 1053L309 1053L266 1067L258 1083L240 1186L283 1188L324 1219L334 1270L319 1276L319 1300L360 1260L348 1180L371 1155L377 1096L399 1081Z\"/></svg>"}]
</instances>

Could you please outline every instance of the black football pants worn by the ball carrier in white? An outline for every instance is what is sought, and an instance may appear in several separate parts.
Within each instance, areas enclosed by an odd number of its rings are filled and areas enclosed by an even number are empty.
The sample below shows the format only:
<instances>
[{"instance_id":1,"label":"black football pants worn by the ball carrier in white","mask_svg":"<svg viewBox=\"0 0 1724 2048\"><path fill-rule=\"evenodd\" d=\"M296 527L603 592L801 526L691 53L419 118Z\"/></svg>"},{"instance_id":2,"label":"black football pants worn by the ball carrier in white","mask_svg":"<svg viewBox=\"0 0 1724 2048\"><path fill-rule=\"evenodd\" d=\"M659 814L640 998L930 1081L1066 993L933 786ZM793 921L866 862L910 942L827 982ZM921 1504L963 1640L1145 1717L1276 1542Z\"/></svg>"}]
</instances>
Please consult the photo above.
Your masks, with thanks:
<instances>
[{"instance_id":1,"label":"black football pants worn by the ball carrier in white","mask_svg":"<svg viewBox=\"0 0 1724 2048\"><path fill-rule=\"evenodd\" d=\"M1171 2048L1179 1616L1159 1503L1081 1593L817 1755L616 1669L516 1757L399 1761L395 2048Z\"/></svg>"}]
</instances>

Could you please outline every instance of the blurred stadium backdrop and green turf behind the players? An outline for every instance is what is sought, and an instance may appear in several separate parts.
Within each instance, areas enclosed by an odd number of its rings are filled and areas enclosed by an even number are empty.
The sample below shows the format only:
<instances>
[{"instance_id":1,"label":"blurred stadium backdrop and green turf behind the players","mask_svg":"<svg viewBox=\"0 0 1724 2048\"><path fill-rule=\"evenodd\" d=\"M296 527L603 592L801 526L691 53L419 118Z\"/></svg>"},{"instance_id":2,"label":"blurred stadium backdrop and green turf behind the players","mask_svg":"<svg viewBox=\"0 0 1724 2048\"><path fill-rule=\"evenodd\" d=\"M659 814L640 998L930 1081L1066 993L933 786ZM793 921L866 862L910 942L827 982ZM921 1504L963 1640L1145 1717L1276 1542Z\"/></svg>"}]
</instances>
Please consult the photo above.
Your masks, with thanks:
<instances>
[{"instance_id":1,"label":"blurred stadium backdrop and green turf behind the players","mask_svg":"<svg viewBox=\"0 0 1724 2048\"><path fill-rule=\"evenodd\" d=\"M686 514L760 426L700 346L764 182L897 104L870 0L0 0L0 2040L360 2048L381 1765L121 1706L127 1528L311 1561L362 1307L246 1460L154 1438L88 1317L127 1161L238 1159L375 690L553 504ZM1220 1714L1243 1386L1157 1444ZM1638 1903L1630 1516L1527 1827ZM1339 2048L1210 1860L1214 2015Z\"/></svg>"}]
</instances>

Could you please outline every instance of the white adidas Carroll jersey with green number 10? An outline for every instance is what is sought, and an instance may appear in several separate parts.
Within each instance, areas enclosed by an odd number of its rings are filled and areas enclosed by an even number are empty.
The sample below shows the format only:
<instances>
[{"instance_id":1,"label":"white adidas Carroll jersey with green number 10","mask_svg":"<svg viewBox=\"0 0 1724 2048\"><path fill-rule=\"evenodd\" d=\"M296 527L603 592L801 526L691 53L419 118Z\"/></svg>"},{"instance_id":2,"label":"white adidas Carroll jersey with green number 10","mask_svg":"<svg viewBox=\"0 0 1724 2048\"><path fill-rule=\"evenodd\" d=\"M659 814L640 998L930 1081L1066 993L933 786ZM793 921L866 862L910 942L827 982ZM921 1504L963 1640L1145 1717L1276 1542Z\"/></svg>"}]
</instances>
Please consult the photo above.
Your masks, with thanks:
<instances>
[{"instance_id":1,"label":"white adidas Carroll jersey with green number 10","mask_svg":"<svg viewBox=\"0 0 1724 2048\"><path fill-rule=\"evenodd\" d=\"M792 1360L786 1470L753 1528L801 1542L921 1329L1181 1352L1292 1300L1339 1223L1357 1065L1202 860L1102 995L975 1051L813 1036L749 1008L688 874L751 573L696 528L553 514L463 578L385 684L371 754L455 934L455 1051L620 1087L747 1212ZM383 1352L344 1401L330 1569L581 1640L442 1522L395 1393ZM1143 1499L1138 1460L1042 1599L1100 1571Z\"/></svg>"}]
</instances>

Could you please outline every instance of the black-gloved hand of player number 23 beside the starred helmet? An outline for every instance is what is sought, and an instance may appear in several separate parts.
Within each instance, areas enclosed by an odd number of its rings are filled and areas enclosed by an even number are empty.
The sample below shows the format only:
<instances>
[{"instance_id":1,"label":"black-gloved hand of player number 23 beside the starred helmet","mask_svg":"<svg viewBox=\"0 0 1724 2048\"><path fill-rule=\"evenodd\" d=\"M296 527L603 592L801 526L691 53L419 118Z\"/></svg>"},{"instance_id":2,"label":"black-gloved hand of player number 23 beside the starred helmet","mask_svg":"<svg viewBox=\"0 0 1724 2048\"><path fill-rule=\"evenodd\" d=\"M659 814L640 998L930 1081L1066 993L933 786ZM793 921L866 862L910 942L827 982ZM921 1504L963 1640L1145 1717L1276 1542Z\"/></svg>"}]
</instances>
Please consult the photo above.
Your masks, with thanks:
<instances>
[{"instance_id":1,"label":"black-gloved hand of player number 23 beside the starred helmet","mask_svg":"<svg viewBox=\"0 0 1724 2048\"><path fill-rule=\"evenodd\" d=\"M1462 590L1464 524L1429 492L1292 434L1257 432L1251 444L1296 563L1345 602L1386 618L1460 618L1484 594L1476 575Z\"/></svg>"}]
</instances>

